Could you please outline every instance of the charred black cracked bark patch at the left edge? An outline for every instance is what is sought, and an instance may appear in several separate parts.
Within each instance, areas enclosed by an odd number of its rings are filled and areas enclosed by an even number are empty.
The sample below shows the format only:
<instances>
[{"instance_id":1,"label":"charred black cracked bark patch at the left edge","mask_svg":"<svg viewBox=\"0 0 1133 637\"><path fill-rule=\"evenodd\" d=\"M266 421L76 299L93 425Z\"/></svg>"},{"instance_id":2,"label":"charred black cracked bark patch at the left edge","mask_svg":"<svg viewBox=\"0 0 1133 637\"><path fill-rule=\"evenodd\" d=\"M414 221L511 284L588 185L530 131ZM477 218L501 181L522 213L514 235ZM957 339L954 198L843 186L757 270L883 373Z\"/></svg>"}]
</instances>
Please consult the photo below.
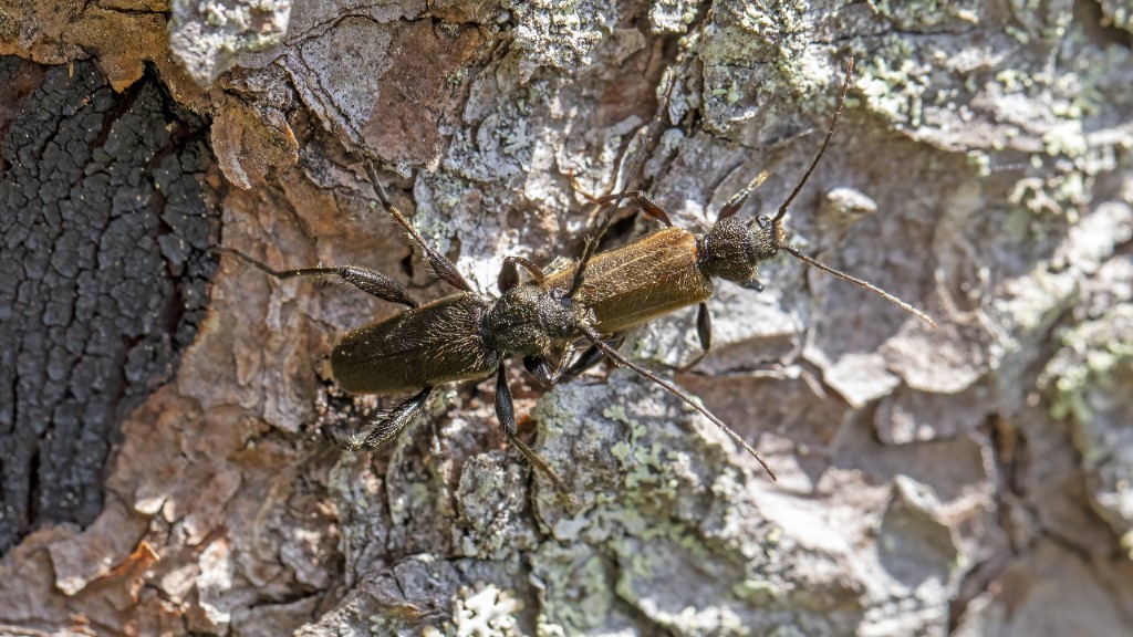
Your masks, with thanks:
<instances>
[{"instance_id":1,"label":"charred black cracked bark patch at the left edge","mask_svg":"<svg viewBox=\"0 0 1133 637\"><path fill-rule=\"evenodd\" d=\"M102 510L118 423L193 342L214 269L203 124L156 79L0 59L0 552Z\"/></svg>"}]
</instances>

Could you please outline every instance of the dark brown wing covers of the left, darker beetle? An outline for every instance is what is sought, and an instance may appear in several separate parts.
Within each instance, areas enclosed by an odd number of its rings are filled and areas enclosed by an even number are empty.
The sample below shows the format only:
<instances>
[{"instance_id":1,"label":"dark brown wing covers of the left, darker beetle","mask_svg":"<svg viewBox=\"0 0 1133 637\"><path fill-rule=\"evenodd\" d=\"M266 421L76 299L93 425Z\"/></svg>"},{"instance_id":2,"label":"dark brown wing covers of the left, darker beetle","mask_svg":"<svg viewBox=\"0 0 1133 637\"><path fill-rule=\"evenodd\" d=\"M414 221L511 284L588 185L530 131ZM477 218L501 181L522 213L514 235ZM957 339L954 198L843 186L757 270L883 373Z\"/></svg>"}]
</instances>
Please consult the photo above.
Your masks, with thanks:
<instances>
[{"instance_id":1,"label":"dark brown wing covers of the left, darker beetle","mask_svg":"<svg viewBox=\"0 0 1133 637\"><path fill-rule=\"evenodd\" d=\"M350 393L398 393L483 379L500 364L483 336L487 307L452 295L347 332L331 351L331 373Z\"/></svg>"}]
</instances>

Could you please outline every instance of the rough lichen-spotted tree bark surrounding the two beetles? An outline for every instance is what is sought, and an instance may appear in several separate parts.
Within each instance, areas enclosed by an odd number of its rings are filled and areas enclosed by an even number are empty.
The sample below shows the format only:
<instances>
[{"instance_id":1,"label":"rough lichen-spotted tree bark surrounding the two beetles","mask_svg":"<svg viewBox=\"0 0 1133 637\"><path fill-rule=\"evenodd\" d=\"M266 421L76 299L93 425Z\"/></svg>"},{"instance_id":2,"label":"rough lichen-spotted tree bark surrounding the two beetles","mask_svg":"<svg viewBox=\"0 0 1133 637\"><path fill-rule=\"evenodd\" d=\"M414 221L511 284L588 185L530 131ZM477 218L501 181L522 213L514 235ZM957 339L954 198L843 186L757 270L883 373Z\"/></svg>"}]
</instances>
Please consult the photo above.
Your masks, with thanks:
<instances>
[{"instance_id":1,"label":"rough lichen-spotted tree bark surrounding the two beetles","mask_svg":"<svg viewBox=\"0 0 1133 637\"><path fill-rule=\"evenodd\" d=\"M3 0L0 16L0 53L22 58L0 65L0 632L1133 625L1119 2ZM501 442L492 382L437 392L392 449L344 453L321 431L380 406L325 384L321 358L397 308L229 257L194 296L218 240L448 294L360 158L486 295L505 255L577 255L594 214L570 176L624 178L666 68L644 185L704 230L768 170L743 214L772 211L851 56L792 241L940 326L785 256L761 294L719 284L713 354L676 379L778 483L624 371L544 393L512 370L574 511ZM624 351L672 370L696 354L693 317Z\"/></svg>"}]
</instances>

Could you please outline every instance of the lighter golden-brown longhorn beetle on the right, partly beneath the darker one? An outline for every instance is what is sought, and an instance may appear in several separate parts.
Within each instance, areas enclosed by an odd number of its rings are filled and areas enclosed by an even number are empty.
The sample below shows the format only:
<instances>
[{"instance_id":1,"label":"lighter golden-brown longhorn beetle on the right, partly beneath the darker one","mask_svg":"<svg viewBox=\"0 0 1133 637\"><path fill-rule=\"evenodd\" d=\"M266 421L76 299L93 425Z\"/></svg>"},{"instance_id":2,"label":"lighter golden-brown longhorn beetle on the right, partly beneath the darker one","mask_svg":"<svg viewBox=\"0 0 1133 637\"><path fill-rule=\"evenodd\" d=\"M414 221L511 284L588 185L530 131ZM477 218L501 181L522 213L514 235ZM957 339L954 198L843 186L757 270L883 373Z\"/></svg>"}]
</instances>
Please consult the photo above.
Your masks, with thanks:
<instances>
[{"instance_id":1,"label":"lighter golden-brown longhorn beetle on the right, partly beneath the darker one","mask_svg":"<svg viewBox=\"0 0 1133 637\"><path fill-rule=\"evenodd\" d=\"M783 218L826 152L830 137L834 135L834 128L842 114L852 74L853 59L846 65L845 80L842 84L837 105L821 147L791 195L778 207L774 218L760 215L747 221L735 218L748 196L766 179L766 172L752 179L747 187L724 204L716 223L706 235L695 235L688 230L674 228L664 209L644 192L622 192L604 197L591 197L582 193L596 204L611 201L615 203L605 213L597 233L588 240L579 263L536 282L545 290L565 290L568 296L586 307L593 316L588 324L580 325L580 330L591 342L590 348L583 351L565 372L556 376L556 380L581 373L600 360L603 355L623 363L621 357L615 357L612 354L613 348L604 343L602 339L620 341L627 330L681 307L697 304L699 305L697 333L701 354L689 365L691 367L712 347L712 322L707 299L713 294L713 279L726 279L750 289L761 290L763 284L759 282L757 267L759 263L775 257L780 250L785 250L824 272L866 288L929 325L936 326L932 318L920 309L877 286L807 256L784 240ZM670 84L665 93L664 100L666 102L672 90L673 83ZM656 134L663 111L664 105L654 119L647 134L646 144L648 144L648 138ZM638 156L630 171L630 179L637 172L644 154L642 148L641 155ZM666 228L620 248L598 253L598 241L608 229L614 213L624 198L634 199L644 213L663 222ZM634 366L634 370L638 367ZM726 425L717 422L715 417L712 418L725 432L740 440ZM767 473L774 478L775 474L767 467L767 464L742 440L741 443L759 459Z\"/></svg>"}]
</instances>

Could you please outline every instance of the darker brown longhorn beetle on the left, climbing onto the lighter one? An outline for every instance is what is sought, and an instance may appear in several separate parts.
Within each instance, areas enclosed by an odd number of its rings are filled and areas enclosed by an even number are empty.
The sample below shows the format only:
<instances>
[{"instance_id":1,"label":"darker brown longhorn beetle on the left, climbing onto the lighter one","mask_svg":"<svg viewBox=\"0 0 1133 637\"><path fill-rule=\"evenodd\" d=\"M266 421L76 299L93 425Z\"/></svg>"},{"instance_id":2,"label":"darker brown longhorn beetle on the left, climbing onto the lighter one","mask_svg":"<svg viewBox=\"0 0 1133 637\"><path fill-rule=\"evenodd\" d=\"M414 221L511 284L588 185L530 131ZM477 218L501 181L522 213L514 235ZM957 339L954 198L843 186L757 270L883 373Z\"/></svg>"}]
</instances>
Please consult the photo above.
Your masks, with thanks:
<instances>
[{"instance_id":1,"label":"darker brown longhorn beetle on the left, climbing onto the lighter one","mask_svg":"<svg viewBox=\"0 0 1133 637\"><path fill-rule=\"evenodd\" d=\"M382 206L393 216L410 241L416 245L433 272L457 288L454 295L421 305L403 287L389 277L356 265L275 270L238 250L216 248L231 254L276 279L338 275L351 286L377 298L404 305L408 309L346 333L331 351L331 375L349 393L417 393L383 414L361 443L348 441L350 449L376 449L395 439L420 414L436 385L496 375L495 411L510 444L543 472L570 500L577 502L565 484L535 450L519 439L511 390L508 387L504 360L519 356L523 365L543 384L559 377L563 363L562 349L579 338L589 340L597 351L637 371L661 384L700 411L736 439L760 462L756 450L732 432L719 418L695 401L671 382L628 360L589 326L588 308L557 287L520 284L518 266L540 283L543 271L530 261L509 256L500 271L501 297L482 298L455 265L434 249L412 223L389 199L373 164L366 170ZM559 354L557 360L555 354ZM343 443L343 441L339 441ZM766 467L766 464L765 464ZM767 468L770 473L770 468ZM774 474L772 474L774 477Z\"/></svg>"}]
</instances>

